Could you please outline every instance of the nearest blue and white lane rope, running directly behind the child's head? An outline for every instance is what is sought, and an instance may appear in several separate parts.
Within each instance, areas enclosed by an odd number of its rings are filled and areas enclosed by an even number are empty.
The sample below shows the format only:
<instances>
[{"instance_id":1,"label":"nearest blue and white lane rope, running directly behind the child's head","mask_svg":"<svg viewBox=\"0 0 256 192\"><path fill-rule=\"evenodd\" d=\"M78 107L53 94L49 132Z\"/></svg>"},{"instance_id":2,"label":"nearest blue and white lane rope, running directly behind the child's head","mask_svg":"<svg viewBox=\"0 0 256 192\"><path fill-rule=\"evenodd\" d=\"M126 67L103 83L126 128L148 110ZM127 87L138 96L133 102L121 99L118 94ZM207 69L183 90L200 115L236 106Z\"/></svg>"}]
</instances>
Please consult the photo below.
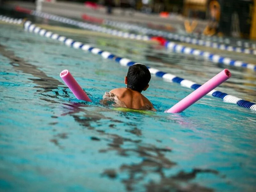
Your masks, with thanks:
<instances>
[{"instance_id":1,"label":"nearest blue and white lane rope, running directly behind the child's head","mask_svg":"<svg viewBox=\"0 0 256 192\"><path fill-rule=\"evenodd\" d=\"M104 59L115 60L121 66L131 66L131 65L134 65L135 63L137 63L130 59L118 57L110 52L103 51L103 50L100 50L99 48L92 47L91 45L83 44L81 42L75 41L68 37L60 36L57 33L47 31L47 30L40 28L40 27L36 26L35 24L31 23L31 21L24 22L24 29L28 32L39 34L40 36L45 36L45 37L48 37L51 39L58 40L60 42L63 42L65 45L67 45L69 47L73 47L75 49L82 49L83 51L92 52L95 55L97 55L97 54L101 55ZM168 81L168 82L179 83L184 87L188 87L188 88L196 90L198 87L201 86L200 84L196 84L195 82L180 78L180 77L172 75L170 73L165 73L156 68L148 67L148 70L150 71L150 73L152 75L155 75L157 77L162 77L165 81ZM235 97L233 95L228 95L227 93L223 93L223 92L216 91L216 90L212 90L211 92L208 93L208 95L212 95L213 97L221 98L224 102L234 103L234 104L237 104L238 106L241 106L244 108L249 108L251 110L256 111L256 103L252 103L250 101L243 100L243 99Z\"/></svg>"}]
</instances>

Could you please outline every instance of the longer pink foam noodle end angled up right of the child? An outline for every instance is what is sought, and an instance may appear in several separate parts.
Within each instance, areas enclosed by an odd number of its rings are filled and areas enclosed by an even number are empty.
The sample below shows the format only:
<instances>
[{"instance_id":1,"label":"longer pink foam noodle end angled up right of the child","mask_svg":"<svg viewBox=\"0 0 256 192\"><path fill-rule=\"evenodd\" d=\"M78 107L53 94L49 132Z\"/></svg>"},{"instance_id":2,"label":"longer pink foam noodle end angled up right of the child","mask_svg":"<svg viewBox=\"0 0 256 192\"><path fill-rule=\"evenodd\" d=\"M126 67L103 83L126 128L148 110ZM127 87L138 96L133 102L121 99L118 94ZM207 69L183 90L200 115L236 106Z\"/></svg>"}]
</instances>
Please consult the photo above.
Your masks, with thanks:
<instances>
[{"instance_id":1,"label":"longer pink foam noodle end angled up right of the child","mask_svg":"<svg viewBox=\"0 0 256 192\"><path fill-rule=\"evenodd\" d=\"M196 101L204 97L207 93L212 91L214 88L222 84L224 81L231 77L231 73L228 69L224 69L216 76L212 77L209 81L205 84L201 85L195 91L190 93L187 97L183 100L172 106L172 108L166 110L166 113L180 113L184 111L189 106L193 105Z\"/></svg>"}]
</instances>

